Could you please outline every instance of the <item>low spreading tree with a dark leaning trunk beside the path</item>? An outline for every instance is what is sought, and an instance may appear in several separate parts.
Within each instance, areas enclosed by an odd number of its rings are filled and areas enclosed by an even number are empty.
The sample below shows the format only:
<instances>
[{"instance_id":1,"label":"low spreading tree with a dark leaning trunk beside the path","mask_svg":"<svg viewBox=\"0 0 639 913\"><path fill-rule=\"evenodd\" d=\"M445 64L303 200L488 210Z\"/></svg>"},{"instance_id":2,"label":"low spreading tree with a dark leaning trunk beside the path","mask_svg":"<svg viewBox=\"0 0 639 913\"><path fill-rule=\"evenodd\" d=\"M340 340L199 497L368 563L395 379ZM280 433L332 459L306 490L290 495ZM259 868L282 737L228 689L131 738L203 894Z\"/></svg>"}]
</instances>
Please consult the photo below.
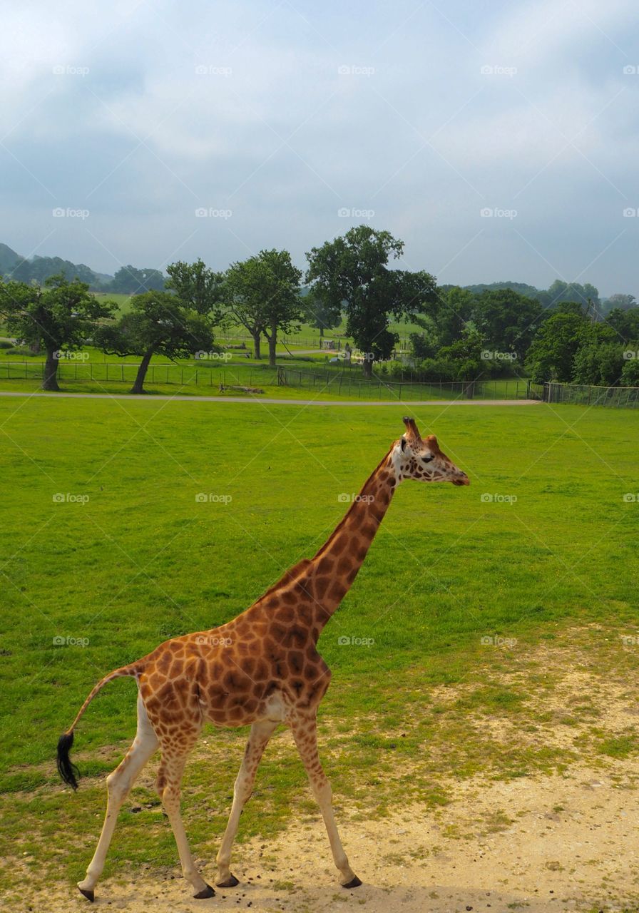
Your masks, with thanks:
<instances>
[{"instance_id":1,"label":"low spreading tree with a dark leaning trunk beside the path","mask_svg":"<svg viewBox=\"0 0 639 913\"><path fill-rule=\"evenodd\" d=\"M213 348L213 330L203 314L168 291L147 291L131 299L131 310L117 323L100 327L96 345L109 355L141 355L132 394L144 393L153 355L172 362Z\"/></svg>"}]
</instances>

